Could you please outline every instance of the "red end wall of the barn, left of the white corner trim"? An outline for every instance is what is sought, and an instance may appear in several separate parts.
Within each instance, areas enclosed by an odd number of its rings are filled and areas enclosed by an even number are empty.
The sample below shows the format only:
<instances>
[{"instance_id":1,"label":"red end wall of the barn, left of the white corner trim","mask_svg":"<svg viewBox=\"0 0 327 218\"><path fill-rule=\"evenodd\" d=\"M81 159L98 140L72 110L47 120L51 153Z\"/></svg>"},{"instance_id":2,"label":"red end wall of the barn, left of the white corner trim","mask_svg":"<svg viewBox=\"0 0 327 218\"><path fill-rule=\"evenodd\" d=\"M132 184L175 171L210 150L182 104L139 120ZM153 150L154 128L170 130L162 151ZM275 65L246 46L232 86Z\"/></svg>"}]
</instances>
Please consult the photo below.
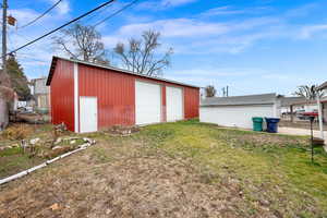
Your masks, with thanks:
<instances>
[{"instance_id":1,"label":"red end wall of the barn, left of the white corner trim","mask_svg":"<svg viewBox=\"0 0 327 218\"><path fill-rule=\"evenodd\" d=\"M74 70L70 61L58 60L50 85L51 120L74 131Z\"/></svg>"}]
</instances>

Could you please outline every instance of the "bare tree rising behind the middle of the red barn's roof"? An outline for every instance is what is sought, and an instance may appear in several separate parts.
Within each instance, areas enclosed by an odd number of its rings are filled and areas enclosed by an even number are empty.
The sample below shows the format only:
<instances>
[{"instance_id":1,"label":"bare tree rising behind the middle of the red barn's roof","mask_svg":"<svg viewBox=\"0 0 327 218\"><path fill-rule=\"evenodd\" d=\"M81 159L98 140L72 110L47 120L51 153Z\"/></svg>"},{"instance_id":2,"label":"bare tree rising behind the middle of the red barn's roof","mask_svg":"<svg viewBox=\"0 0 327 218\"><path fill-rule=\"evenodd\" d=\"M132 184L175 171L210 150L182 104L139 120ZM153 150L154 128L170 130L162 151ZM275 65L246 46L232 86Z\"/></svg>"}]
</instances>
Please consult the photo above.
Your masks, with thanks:
<instances>
[{"instance_id":1,"label":"bare tree rising behind the middle of the red barn's roof","mask_svg":"<svg viewBox=\"0 0 327 218\"><path fill-rule=\"evenodd\" d=\"M124 66L134 73L145 75L160 75L162 70L170 65L172 48L164 55L158 55L160 33L146 31L141 39L131 38L129 45L117 44L114 52L121 59Z\"/></svg>"}]
</instances>

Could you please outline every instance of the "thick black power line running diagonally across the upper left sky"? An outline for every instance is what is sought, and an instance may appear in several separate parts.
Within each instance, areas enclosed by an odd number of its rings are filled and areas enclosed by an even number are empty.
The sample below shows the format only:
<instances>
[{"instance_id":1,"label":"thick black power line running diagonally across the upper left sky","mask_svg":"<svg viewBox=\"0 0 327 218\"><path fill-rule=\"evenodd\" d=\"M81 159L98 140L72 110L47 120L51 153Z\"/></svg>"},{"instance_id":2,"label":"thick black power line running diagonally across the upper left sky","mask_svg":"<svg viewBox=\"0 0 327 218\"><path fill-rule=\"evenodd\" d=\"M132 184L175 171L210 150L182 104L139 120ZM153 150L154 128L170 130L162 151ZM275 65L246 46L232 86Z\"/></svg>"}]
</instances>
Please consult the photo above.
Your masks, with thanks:
<instances>
[{"instance_id":1,"label":"thick black power line running diagonally across the upper left sky","mask_svg":"<svg viewBox=\"0 0 327 218\"><path fill-rule=\"evenodd\" d=\"M86 13L84 13L84 14L82 14L82 15L75 17L75 19L73 19L72 21L70 21L70 22L68 22L68 23L65 23L65 24L63 24L63 25L61 25L61 26L59 26L59 27L57 27L57 28L55 28L55 29L52 29L52 31L50 31L50 32L48 32L48 33L46 33L45 35L43 35L43 36L40 36L40 37L38 37L38 38L36 38L36 39L34 39L34 40L32 40L32 41L29 41L29 43L27 43L27 44L21 46L21 47L16 48L16 49L14 49L14 50L12 50L12 51L10 51L9 53L5 53L4 56L14 53L14 52L16 52L16 51L19 51L19 50L21 50L21 49L23 49L23 48L25 48L25 47L27 47L27 46L34 44L34 43L36 43L36 41L38 41L38 40L40 40L40 39L43 39L43 38L45 38L45 37L51 35L51 34L53 34L53 33L56 33L56 32L58 32L59 29L61 29L61 28L63 28L63 27L65 27L65 26L68 26L68 25L70 25L70 24L72 24L72 23L74 23L74 22L76 22L76 21L78 21L78 20L81 20L81 19L83 19L84 16L87 16L88 14L90 14L90 13L93 13L93 12L95 12L95 11L97 11L97 10L99 10L99 9L101 9L101 8L104 8L104 7L106 7L107 4L112 3L113 1L116 1L116 0L109 0L109 1L107 1L107 2L105 2L105 3L102 3L102 4L100 4L99 7L97 7L97 8L93 9L93 10L90 10L90 11L88 11L88 12L86 12Z\"/></svg>"}]
</instances>

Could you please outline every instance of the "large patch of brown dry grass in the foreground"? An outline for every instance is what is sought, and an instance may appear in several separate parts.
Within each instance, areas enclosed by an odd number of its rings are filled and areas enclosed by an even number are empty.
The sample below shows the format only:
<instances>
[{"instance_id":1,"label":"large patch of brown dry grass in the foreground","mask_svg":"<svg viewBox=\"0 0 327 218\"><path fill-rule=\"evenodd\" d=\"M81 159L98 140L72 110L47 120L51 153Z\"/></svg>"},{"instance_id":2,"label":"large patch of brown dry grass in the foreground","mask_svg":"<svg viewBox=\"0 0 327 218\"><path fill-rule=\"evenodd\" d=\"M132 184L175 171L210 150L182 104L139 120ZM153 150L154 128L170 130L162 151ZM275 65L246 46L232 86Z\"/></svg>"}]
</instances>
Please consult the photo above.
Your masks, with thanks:
<instances>
[{"instance_id":1,"label":"large patch of brown dry grass in the foreground","mask_svg":"<svg viewBox=\"0 0 327 218\"><path fill-rule=\"evenodd\" d=\"M111 140L2 185L0 217L251 217L231 178L210 183L217 175L147 149ZM268 205L255 210L256 217L274 213Z\"/></svg>"}]
</instances>

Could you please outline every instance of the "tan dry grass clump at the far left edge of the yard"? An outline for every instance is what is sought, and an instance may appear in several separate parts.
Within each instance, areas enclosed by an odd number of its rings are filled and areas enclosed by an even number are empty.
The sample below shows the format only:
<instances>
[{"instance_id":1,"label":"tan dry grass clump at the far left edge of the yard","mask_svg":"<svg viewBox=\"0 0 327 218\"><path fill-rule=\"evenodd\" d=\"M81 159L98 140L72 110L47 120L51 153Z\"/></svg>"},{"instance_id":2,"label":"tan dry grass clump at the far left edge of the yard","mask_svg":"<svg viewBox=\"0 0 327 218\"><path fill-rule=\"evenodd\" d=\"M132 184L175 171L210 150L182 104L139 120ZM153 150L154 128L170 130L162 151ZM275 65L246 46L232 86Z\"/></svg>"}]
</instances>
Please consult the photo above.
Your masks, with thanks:
<instances>
[{"instance_id":1,"label":"tan dry grass clump at the far left edge of the yard","mask_svg":"<svg viewBox=\"0 0 327 218\"><path fill-rule=\"evenodd\" d=\"M24 140L26 138L29 134L32 134L32 129L27 125L24 124L19 124L19 125L12 125L9 126L8 129L5 129L1 136L4 140L11 140L11 141L15 141L15 140Z\"/></svg>"}]
</instances>

